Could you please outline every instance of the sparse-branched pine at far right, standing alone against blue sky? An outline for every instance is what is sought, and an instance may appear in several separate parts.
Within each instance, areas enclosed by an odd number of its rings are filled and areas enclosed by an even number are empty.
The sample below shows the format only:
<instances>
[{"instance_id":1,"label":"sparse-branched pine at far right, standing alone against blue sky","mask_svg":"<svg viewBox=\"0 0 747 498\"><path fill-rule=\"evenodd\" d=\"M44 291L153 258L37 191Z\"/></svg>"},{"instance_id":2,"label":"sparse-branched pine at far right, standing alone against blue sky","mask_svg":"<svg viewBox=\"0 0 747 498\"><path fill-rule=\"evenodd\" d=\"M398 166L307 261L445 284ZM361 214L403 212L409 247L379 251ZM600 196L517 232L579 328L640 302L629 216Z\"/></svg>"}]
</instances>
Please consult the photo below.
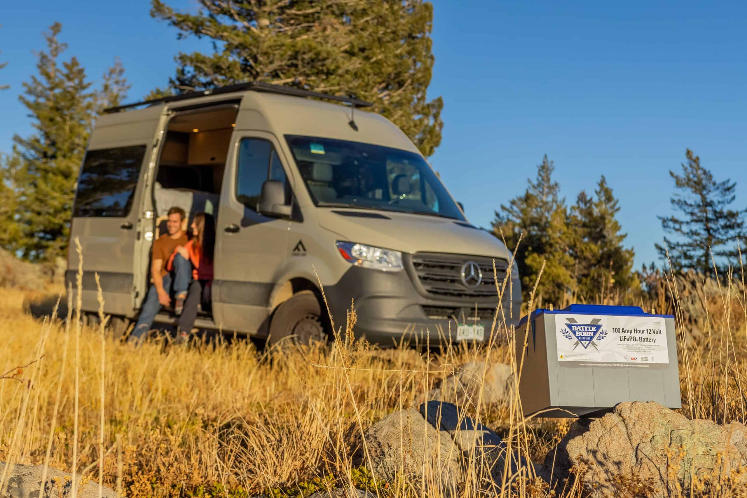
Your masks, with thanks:
<instances>
[{"instance_id":1,"label":"sparse-branched pine at far right, standing alone against blue sky","mask_svg":"<svg viewBox=\"0 0 747 498\"><path fill-rule=\"evenodd\" d=\"M682 164L681 175L669 171L675 187L681 190L670 202L672 208L684 216L658 217L664 232L674 234L680 240L665 236L663 245L655 246L662 259L666 259L666 250L669 249L669 260L675 270L692 268L706 275L713 273L710 258L710 253L713 253L720 273L725 260L734 262L738 257L737 242L745 237L744 215L747 209L728 209L736 198L737 182L731 182L731 179L716 182L692 150L687 149L685 156L687 164Z\"/></svg>"}]
</instances>

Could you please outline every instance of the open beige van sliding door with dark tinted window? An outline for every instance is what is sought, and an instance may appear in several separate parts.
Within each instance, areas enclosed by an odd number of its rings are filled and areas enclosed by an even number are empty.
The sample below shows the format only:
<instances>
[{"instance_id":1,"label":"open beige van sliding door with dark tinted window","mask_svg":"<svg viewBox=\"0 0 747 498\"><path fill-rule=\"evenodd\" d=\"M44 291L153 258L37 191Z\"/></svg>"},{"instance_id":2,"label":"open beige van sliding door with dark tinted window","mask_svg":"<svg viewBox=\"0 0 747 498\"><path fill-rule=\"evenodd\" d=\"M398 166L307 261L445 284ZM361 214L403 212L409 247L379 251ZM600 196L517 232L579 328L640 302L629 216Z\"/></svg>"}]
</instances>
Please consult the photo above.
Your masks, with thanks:
<instances>
[{"instance_id":1,"label":"open beige van sliding door with dark tinted window","mask_svg":"<svg viewBox=\"0 0 747 498\"><path fill-rule=\"evenodd\" d=\"M105 313L134 316L147 290L153 236L152 169L166 123L166 105L104 114L96 121L78 175L70 227L66 285L72 283L83 248L83 310L99 309L95 274Z\"/></svg>"}]
</instances>

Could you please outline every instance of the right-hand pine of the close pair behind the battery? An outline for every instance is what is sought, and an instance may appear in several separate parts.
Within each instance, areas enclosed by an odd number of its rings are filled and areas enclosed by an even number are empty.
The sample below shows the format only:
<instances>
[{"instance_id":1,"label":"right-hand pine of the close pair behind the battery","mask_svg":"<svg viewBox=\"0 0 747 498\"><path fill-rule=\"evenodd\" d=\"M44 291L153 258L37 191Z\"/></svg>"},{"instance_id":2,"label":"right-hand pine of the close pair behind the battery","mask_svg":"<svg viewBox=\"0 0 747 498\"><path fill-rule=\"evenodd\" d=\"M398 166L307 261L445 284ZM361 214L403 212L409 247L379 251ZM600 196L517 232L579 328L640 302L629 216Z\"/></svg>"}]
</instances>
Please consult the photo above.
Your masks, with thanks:
<instances>
[{"instance_id":1,"label":"right-hand pine of the close pair behind the battery","mask_svg":"<svg viewBox=\"0 0 747 498\"><path fill-rule=\"evenodd\" d=\"M591 301L613 291L627 292L640 286L633 268L633 250L625 249L627 234L615 216L620 211L607 179L601 176L595 198L581 191L571 207L568 224L571 256L575 259L574 279L580 298Z\"/></svg>"}]
</instances>

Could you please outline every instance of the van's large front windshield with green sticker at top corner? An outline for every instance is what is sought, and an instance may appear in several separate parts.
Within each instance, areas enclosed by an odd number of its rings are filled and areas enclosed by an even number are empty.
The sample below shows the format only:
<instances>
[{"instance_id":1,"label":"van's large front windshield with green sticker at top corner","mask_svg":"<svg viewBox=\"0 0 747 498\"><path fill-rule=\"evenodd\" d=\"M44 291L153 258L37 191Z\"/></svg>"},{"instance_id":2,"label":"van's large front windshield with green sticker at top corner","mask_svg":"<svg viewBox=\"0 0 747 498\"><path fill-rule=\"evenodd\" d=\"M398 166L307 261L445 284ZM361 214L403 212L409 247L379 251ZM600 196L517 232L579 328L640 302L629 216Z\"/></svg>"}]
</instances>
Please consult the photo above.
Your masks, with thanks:
<instances>
[{"instance_id":1,"label":"van's large front windshield with green sticker at top corner","mask_svg":"<svg viewBox=\"0 0 747 498\"><path fill-rule=\"evenodd\" d=\"M311 199L351 207L465 221L418 154L361 142L285 135Z\"/></svg>"}]
</instances>

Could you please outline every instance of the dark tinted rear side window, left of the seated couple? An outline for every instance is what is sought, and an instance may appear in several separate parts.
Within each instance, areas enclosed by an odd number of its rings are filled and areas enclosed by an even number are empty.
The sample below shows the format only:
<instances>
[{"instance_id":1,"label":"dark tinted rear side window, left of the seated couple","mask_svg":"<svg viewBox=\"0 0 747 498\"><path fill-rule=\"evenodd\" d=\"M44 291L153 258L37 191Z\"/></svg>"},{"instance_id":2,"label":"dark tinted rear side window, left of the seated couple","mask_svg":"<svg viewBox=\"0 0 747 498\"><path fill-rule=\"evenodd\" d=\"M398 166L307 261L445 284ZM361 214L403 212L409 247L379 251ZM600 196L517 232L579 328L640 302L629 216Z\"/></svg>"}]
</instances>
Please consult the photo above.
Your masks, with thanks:
<instances>
[{"instance_id":1,"label":"dark tinted rear side window, left of the seated couple","mask_svg":"<svg viewBox=\"0 0 747 498\"><path fill-rule=\"evenodd\" d=\"M75 218L124 218L132 207L145 145L89 150L78 176Z\"/></svg>"}]
</instances>

